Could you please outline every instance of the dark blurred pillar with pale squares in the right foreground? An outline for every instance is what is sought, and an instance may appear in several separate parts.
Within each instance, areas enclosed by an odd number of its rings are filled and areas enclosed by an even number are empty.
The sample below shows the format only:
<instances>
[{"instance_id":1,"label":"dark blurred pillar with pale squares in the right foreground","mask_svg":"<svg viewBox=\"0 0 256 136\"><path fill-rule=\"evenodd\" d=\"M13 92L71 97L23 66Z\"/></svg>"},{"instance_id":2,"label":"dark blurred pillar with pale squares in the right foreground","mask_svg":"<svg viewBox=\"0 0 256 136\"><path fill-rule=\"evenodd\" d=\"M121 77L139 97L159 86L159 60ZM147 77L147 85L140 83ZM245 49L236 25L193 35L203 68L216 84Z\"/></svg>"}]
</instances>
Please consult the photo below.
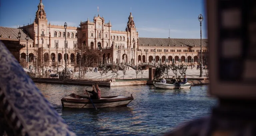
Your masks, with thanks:
<instances>
[{"instance_id":1,"label":"dark blurred pillar with pale squares in the right foreground","mask_svg":"<svg viewBox=\"0 0 256 136\"><path fill-rule=\"evenodd\" d=\"M166 136L256 135L256 1L206 0L209 94L219 99L206 118Z\"/></svg>"}]
</instances>

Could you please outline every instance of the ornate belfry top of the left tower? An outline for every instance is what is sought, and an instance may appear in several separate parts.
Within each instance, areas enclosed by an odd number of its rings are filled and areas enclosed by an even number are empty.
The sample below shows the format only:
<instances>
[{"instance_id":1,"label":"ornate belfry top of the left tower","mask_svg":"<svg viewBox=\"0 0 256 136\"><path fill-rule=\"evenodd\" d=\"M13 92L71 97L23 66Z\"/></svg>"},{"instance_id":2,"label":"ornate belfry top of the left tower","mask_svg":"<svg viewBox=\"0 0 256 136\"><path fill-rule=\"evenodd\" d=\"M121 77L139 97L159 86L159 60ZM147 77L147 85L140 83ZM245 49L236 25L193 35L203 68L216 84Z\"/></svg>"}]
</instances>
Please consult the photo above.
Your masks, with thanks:
<instances>
[{"instance_id":1,"label":"ornate belfry top of the left tower","mask_svg":"<svg viewBox=\"0 0 256 136\"><path fill-rule=\"evenodd\" d=\"M36 11L35 16L35 23L39 24L39 22L47 23L46 13L44 11L44 4L42 3L42 0L40 0L40 3L38 4L38 10Z\"/></svg>"}]
</instances>

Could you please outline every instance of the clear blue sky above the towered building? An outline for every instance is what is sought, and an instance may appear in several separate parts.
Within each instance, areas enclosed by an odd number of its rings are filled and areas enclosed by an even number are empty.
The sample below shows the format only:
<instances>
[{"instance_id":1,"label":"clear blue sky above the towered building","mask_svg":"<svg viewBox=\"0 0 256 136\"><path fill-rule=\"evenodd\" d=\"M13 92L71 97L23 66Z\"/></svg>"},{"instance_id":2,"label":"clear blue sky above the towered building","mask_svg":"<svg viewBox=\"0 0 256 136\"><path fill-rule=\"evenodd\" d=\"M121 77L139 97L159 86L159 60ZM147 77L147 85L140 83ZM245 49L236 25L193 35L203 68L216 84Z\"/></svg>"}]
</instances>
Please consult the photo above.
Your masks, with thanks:
<instances>
[{"instance_id":1,"label":"clear blue sky above the towered building","mask_svg":"<svg viewBox=\"0 0 256 136\"><path fill-rule=\"evenodd\" d=\"M0 26L17 28L33 23L40 0L0 0ZM94 15L109 20L112 30L125 30L132 12L139 37L207 38L204 0L42 0L48 23L79 26L80 21L93 21ZM99 7L99 12L97 11Z\"/></svg>"}]
</instances>

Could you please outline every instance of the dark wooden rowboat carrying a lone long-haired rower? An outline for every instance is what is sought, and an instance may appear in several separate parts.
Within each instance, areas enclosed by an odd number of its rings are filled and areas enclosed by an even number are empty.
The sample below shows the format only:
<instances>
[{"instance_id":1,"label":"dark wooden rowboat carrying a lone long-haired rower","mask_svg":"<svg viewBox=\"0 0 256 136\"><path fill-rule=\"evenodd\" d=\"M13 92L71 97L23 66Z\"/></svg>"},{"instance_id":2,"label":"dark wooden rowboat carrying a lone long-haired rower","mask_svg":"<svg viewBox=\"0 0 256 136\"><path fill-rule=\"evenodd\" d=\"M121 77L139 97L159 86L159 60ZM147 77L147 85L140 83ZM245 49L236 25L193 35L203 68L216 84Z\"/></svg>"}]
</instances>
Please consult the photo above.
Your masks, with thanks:
<instances>
[{"instance_id":1,"label":"dark wooden rowboat carrying a lone long-haired rower","mask_svg":"<svg viewBox=\"0 0 256 136\"><path fill-rule=\"evenodd\" d=\"M124 107L133 100L133 96L132 94L131 97L109 96L91 100L94 106L97 108ZM61 99L61 104L63 108L94 108L92 102L87 96L80 96L74 93L67 95Z\"/></svg>"}]
</instances>

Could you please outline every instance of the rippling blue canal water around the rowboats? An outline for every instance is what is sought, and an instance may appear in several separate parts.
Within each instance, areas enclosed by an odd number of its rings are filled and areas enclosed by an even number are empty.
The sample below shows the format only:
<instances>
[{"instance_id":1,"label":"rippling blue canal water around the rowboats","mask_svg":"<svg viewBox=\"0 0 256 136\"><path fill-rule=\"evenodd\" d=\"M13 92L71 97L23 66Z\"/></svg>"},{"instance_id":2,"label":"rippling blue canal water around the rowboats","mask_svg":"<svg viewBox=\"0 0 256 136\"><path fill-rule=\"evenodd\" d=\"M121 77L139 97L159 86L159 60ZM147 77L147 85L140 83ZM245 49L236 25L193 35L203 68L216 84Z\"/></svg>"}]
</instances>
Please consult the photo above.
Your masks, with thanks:
<instances>
[{"instance_id":1,"label":"rippling blue canal water around the rowboats","mask_svg":"<svg viewBox=\"0 0 256 136\"><path fill-rule=\"evenodd\" d=\"M127 107L62 109L60 99L70 93L83 95L90 86L36 83L71 130L81 135L162 135L185 121L209 115L215 99L207 97L207 85L189 90L159 90L154 86L100 87L102 96L130 96Z\"/></svg>"}]
</instances>

